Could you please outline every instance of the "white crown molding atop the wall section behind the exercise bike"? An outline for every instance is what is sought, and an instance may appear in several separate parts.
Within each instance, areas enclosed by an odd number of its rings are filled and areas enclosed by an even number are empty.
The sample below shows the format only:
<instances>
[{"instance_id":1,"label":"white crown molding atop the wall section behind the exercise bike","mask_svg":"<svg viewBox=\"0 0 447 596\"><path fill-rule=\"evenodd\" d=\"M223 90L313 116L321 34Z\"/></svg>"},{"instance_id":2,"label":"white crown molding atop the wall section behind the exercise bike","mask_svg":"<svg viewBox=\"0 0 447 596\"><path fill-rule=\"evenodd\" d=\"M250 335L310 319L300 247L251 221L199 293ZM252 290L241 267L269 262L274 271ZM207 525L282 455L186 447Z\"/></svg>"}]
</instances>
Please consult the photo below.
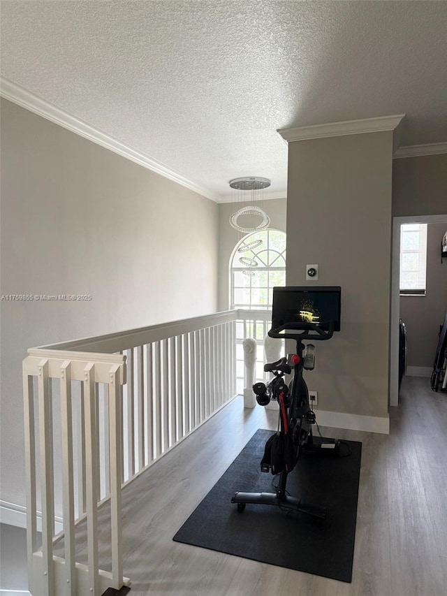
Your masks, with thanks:
<instances>
[{"instance_id":1,"label":"white crown molding atop the wall section behind the exercise bike","mask_svg":"<svg viewBox=\"0 0 447 596\"><path fill-rule=\"evenodd\" d=\"M277 132L287 143L294 143L297 140L309 140L312 138L393 131L402 122L403 117L404 114L399 114L361 120L346 120L346 122L298 126L294 129L278 129Z\"/></svg>"}]
</instances>

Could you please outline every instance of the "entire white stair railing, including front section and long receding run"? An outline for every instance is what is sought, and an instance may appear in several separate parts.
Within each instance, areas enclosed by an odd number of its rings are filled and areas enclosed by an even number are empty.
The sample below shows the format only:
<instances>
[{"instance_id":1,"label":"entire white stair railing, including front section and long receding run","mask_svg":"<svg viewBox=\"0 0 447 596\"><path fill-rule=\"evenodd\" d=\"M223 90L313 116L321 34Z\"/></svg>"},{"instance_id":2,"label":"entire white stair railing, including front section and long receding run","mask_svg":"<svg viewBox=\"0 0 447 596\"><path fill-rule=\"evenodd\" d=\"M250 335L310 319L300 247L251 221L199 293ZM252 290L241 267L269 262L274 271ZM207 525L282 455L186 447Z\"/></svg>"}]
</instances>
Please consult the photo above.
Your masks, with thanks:
<instances>
[{"instance_id":1,"label":"entire white stair railing, including front section and long receding run","mask_svg":"<svg viewBox=\"0 0 447 596\"><path fill-rule=\"evenodd\" d=\"M23 386L31 594L100 596L129 585L122 486L235 396L237 318L228 311L29 349ZM98 556L105 502L112 572L100 569ZM55 536L57 507L64 531ZM87 565L75 557L81 522Z\"/></svg>"}]
</instances>

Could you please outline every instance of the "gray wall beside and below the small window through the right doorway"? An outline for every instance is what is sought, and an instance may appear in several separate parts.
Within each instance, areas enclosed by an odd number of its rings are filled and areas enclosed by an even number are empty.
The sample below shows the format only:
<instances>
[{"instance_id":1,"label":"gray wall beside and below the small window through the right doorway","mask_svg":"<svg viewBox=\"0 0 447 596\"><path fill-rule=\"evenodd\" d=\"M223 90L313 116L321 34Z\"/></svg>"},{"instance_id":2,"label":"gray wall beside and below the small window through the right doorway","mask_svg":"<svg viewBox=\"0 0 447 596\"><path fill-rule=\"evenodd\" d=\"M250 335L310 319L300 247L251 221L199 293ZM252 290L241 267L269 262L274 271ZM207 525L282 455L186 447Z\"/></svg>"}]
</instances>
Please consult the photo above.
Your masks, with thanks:
<instances>
[{"instance_id":1,"label":"gray wall beside and below the small window through the right doorway","mask_svg":"<svg viewBox=\"0 0 447 596\"><path fill-rule=\"evenodd\" d=\"M447 259L441 264L441 240L447 224L427 225L427 293L401 296L400 317L406 325L408 366L431 368L439 325L447 312Z\"/></svg>"}]
</instances>

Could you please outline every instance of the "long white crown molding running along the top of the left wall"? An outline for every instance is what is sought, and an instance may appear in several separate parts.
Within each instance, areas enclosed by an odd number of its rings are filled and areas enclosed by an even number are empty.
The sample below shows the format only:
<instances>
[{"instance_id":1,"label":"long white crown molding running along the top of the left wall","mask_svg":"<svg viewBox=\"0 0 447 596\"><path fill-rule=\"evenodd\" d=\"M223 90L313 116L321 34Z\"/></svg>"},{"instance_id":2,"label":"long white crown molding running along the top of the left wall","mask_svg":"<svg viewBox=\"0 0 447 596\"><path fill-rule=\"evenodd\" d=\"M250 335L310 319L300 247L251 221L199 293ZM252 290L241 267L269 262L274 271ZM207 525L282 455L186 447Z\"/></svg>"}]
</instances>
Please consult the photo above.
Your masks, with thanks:
<instances>
[{"instance_id":1,"label":"long white crown molding running along the top of the left wall","mask_svg":"<svg viewBox=\"0 0 447 596\"><path fill-rule=\"evenodd\" d=\"M51 120L51 122L54 122L55 124L59 124L59 126L63 126L64 129L68 129L79 136L93 141L93 143L96 143L97 145L101 145L126 159L138 163L138 165L143 166L143 168L152 170L152 172L160 174L161 176L168 178L168 180L173 180L173 182L177 182L177 184L181 184L189 190L210 198L211 201L214 201L215 203L219 203L221 200L219 194L188 180L182 176L182 174L164 166L163 163L156 161L156 159L152 159L144 153L133 149L133 147L130 147L103 131L94 128L94 126L87 124L87 122L64 112L64 110L57 108L52 103L45 101L45 99L34 95L27 91L27 89L24 89L23 87L20 87L20 85L16 85L14 82L3 77L0 77L0 95L9 101L13 101L13 103L17 103L17 106L22 106L22 108L26 108L30 112L34 112L47 120Z\"/></svg>"}]
</instances>

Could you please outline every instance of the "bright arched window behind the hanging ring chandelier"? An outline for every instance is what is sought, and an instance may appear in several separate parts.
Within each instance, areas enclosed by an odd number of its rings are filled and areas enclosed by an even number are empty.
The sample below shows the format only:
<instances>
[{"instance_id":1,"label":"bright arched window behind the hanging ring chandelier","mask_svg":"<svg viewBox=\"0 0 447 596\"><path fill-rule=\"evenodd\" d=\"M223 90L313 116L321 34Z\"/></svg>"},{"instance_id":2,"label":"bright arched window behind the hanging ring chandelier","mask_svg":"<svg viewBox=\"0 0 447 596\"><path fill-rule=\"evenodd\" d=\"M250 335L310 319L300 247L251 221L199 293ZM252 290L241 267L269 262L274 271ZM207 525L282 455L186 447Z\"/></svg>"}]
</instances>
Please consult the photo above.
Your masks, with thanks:
<instances>
[{"instance_id":1,"label":"bright arched window behind the hanging ring chandelier","mask_svg":"<svg viewBox=\"0 0 447 596\"><path fill-rule=\"evenodd\" d=\"M230 265L230 307L272 308L273 287L286 284L286 234L267 229L244 236Z\"/></svg>"}]
</instances>

